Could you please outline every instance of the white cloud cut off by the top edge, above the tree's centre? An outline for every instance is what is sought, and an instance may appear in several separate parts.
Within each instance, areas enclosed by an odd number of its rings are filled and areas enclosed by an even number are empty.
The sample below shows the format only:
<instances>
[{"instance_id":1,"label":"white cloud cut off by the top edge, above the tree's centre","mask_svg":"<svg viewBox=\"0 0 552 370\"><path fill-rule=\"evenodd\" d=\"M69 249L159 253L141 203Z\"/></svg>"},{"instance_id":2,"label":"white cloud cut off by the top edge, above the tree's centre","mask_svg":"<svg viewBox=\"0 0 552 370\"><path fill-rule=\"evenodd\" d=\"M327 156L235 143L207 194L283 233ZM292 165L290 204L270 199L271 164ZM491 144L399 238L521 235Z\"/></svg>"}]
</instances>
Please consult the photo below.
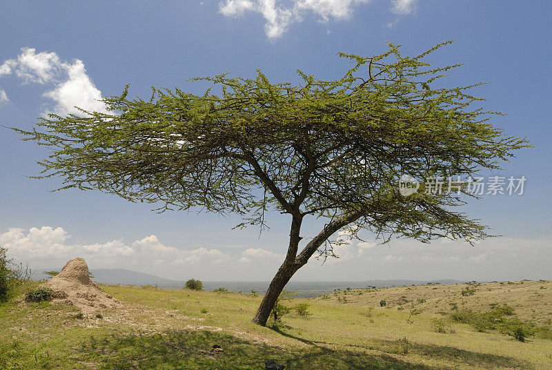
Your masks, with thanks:
<instances>
[{"instance_id":1,"label":"white cloud cut off by the top edge, above the tree's centre","mask_svg":"<svg viewBox=\"0 0 552 370\"><path fill-rule=\"evenodd\" d=\"M353 6L368 0L293 0L284 6L279 0L226 0L219 3L221 14L226 17L240 16L244 12L256 12L265 19L265 32L269 39L282 37L290 24L302 21L306 14L315 14L320 21L348 19Z\"/></svg>"}]
</instances>

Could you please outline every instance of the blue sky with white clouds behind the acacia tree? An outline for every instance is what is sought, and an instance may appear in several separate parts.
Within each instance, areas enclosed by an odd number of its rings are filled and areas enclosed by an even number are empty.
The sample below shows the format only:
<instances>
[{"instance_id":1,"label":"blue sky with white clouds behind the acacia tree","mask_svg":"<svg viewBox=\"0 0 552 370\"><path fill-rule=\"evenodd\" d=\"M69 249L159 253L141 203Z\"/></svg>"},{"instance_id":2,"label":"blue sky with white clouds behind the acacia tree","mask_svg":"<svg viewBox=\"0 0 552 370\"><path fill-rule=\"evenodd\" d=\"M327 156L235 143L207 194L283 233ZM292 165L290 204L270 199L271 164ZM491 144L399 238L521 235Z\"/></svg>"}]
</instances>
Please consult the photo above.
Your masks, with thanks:
<instances>
[{"instance_id":1,"label":"blue sky with white clouds behind the acacia tree","mask_svg":"<svg viewBox=\"0 0 552 370\"><path fill-rule=\"evenodd\" d=\"M375 55L385 42L405 54L457 40L428 59L464 63L446 84L492 81L475 93L494 120L534 148L493 175L526 177L522 196L485 196L466 211L502 237L475 247L400 240L352 242L339 260L313 261L295 280L388 278L513 280L552 278L552 3L533 1L117 1L0 4L0 124L30 128L46 112L150 86L201 93L186 79L230 72L297 82L297 68L337 78L348 63L336 52ZM34 50L33 50L34 49ZM2 67L3 66L3 67ZM89 105L90 106L90 105ZM59 179L35 181L47 153L0 128L0 243L17 260L59 267L81 255L92 268L121 267L163 277L268 280L287 244L288 219L270 230L230 230L239 220L196 213L155 214L143 204L97 192L50 193ZM304 235L322 225L306 223Z\"/></svg>"}]
</instances>

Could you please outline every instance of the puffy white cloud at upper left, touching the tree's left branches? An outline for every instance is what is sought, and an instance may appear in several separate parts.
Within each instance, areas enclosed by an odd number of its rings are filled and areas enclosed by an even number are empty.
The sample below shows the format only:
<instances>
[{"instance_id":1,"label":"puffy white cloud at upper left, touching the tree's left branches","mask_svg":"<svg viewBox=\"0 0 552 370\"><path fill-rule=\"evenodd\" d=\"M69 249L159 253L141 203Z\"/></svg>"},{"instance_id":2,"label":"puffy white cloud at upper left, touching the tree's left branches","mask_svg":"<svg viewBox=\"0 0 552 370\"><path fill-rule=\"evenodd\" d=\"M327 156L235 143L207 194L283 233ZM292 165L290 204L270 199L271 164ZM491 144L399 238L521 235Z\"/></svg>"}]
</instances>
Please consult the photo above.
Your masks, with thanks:
<instances>
[{"instance_id":1,"label":"puffy white cloud at upper left, touching the tree's left branches","mask_svg":"<svg viewBox=\"0 0 552 370\"><path fill-rule=\"evenodd\" d=\"M14 75L23 84L53 84L54 88L43 93L56 105L45 114L82 115L75 106L84 110L107 113L105 104L99 101L101 91L86 74L83 61L62 61L55 52L37 52L34 48L21 48L21 54L8 59L0 66L0 77ZM0 90L0 102L2 93ZM6 95L4 93L3 95ZM7 99L7 97L6 97Z\"/></svg>"}]
</instances>

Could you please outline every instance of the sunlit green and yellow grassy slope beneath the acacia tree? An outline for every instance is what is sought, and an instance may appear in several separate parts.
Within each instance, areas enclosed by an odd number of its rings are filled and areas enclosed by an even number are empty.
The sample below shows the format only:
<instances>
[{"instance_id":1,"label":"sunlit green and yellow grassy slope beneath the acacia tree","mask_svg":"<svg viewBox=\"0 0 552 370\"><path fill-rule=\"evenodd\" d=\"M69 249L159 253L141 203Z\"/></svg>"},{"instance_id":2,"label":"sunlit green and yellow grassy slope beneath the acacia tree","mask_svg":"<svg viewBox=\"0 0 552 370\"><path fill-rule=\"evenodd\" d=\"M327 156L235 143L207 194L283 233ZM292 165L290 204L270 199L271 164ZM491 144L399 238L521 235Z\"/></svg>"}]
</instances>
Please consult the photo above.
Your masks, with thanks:
<instances>
[{"instance_id":1,"label":"sunlit green and yellow grassy slope beneath the acacia tree","mask_svg":"<svg viewBox=\"0 0 552 370\"><path fill-rule=\"evenodd\" d=\"M267 358L286 369L552 368L551 340L516 342L465 324L452 324L453 334L436 333L431 322L452 304L483 311L509 302L520 318L545 325L551 282L483 284L467 297L460 293L465 287L294 300L310 303L313 315L289 315L278 330L250 322L260 298L233 293L102 286L126 308L82 320L71 307L12 300L0 304L0 369L262 369ZM413 308L423 312L408 320ZM224 353L211 352L213 344Z\"/></svg>"}]
</instances>

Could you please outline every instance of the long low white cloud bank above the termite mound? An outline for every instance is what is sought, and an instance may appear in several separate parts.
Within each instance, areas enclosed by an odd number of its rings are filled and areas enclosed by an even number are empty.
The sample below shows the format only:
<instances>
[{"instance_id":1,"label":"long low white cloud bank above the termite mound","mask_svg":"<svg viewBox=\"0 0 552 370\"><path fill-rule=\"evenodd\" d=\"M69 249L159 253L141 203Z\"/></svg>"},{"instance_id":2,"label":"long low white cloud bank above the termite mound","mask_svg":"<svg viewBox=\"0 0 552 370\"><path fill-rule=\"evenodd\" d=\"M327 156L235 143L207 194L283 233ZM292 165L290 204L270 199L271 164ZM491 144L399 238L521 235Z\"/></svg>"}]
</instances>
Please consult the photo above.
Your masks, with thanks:
<instances>
[{"instance_id":1,"label":"long low white cloud bank above the termite mound","mask_svg":"<svg viewBox=\"0 0 552 370\"><path fill-rule=\"evenodd\" d=\"M0 234L0 245L8 249L10 256L20 261L66 261L83 257L97 264L126 266L128 264L177 264L193 265L198 262L219 264L230 256L217 249L193 250L165 246L155 235L126 244L122 240L95 244L71 243L70 235L63 228L43 226L10 228Z\"/></svg>"}]
</instances>

